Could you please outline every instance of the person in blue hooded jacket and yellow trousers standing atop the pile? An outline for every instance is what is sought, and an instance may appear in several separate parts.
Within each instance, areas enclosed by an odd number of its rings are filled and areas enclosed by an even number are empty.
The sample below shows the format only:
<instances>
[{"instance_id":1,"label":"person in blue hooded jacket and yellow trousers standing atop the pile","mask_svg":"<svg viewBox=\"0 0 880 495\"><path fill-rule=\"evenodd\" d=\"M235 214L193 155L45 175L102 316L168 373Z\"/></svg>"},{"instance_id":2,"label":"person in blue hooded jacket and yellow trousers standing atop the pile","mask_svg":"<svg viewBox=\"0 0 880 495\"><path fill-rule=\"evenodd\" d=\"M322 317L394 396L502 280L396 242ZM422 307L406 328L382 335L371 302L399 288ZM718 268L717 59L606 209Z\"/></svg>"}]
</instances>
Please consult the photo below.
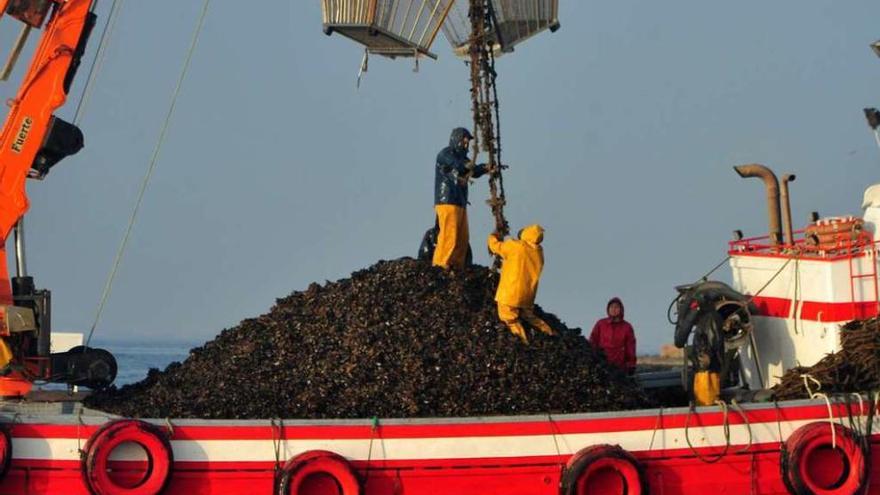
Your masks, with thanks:
<instances>
[{"instance_id":1,"label":"person in blue hooded jacket and yellow trousers standing atop the pile","mask_svg":"<svg viewBox=\"0 0 880 495\"><path fill-rule=\"evenodd\" d=\"M484 175L486 165L475 165L467 153L473 135L463 128L452 130L449 146L437 154L434 171L434 211L440 233L433 265L463 267L468 251L468 182Z\"/></svg>"}]
</instances>

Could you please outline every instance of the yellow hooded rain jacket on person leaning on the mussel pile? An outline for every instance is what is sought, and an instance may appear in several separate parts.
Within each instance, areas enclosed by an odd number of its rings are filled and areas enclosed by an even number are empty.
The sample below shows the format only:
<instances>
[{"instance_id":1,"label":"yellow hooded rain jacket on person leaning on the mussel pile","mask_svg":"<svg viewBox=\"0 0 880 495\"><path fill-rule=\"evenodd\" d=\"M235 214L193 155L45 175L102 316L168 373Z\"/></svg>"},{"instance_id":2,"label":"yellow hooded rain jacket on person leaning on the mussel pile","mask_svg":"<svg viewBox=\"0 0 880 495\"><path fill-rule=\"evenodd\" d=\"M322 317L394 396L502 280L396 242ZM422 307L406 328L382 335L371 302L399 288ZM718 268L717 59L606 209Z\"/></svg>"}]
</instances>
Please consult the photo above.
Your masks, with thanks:
<instances>
[{"instance_id":1,"label":"yellow hooded rain jacket on person leaning on the mussel pile","mask_svg":"<svg viewBox=\"0 0 880 495\"><path fill-rule=\"evenodd\" d=\"M515 308L531 308L538 292L538 280L544 269L544 229L540 225L530 225L520 232L519 240L502 241L494 235L489 236L489 251L501 256L501 281L495 300Z\"/></svg>"}]
</instances>

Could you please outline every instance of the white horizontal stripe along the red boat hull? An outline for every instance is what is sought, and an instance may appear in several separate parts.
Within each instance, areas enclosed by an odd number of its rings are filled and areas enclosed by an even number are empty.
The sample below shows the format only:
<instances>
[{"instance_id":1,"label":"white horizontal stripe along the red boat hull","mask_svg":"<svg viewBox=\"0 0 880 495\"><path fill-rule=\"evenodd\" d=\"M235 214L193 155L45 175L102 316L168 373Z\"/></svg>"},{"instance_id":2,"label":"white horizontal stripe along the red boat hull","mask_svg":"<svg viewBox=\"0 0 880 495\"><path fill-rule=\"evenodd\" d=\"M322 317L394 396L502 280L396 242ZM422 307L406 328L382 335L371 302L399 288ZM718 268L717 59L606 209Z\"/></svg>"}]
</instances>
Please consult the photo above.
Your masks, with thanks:
<instances>
[{"instance_id":1,"label":"white horizontal stripe along the red boat hull","mask_svg":"<svg viewBox=\"0 0 880 495\"><path fill-rule=\"evenodd\" d=\"M784 439L799 427L815 421L758 423L750 427L732 425L729 428L729 443L734 447L747 445L749 430L753 444L778 443L780 429ZM694 448L724 447L727 443L723 426L690 427L688 436ZM13 452L16 459L76 461L80 458L79 449L85 442L85 438L15 438ZM375 438L372 452L368 438L282 440L279 453L282 459L288 459L308 450L329 450L348 459L372 461L512 458L571 455L584 447L604 443L619 444L630 452L688 448L685 429L670 428L657 430L656 433L653 430L638 430L556 436ZM174 459L183 462L274 462L276 458L272 440L175 440L171 445ZM112 457L114 460L144 458L143 450L137 447L118 448Z\"/></svg>"}]
</instances>

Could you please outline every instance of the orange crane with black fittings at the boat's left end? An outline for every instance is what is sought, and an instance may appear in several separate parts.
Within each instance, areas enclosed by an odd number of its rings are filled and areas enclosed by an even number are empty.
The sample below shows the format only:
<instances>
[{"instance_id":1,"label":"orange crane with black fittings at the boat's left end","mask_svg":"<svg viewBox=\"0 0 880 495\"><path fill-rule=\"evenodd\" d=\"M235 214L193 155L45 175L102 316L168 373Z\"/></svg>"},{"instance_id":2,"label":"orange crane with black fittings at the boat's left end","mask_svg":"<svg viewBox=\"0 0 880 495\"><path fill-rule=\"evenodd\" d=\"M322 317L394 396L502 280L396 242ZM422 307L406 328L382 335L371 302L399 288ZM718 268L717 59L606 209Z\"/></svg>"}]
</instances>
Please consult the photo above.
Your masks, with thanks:
<instances>
[{"instance_id":1,"label":"orange crane with black fittings at the boat's left end","mask_svg":"<svg viewBox=\"0 0 880 495\"><path fill-rule=\"evenodd\" d=\"M28 178L43 179L61 159L83 147L82 132L54 115L80 65L95 25L94 0L0 0L0 16L24 23L3 79L29 32L43 29L30 67L0 133L0 396L27 393L34 381L100 388L113 382L116 361L102 349L50 354L50 292L38 290L24 263L23 225ZM16 276L9 276L6 244L16 231Z\"/></svg>"}]
</instances>

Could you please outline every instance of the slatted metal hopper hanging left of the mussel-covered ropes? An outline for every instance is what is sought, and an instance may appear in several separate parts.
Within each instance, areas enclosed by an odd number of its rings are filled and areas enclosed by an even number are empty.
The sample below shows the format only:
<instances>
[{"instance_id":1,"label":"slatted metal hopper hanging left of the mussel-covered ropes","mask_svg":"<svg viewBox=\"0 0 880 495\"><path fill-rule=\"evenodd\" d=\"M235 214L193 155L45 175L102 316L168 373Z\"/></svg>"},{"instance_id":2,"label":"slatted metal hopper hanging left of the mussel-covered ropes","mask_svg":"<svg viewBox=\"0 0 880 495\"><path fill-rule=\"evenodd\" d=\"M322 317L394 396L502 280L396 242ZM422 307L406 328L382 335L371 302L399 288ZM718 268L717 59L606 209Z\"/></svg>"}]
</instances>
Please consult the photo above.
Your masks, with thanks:
<instances>
[{"instance_id":1,"label":"slatted metal hopper hanging left of the mussel-covered ropes","mask_svg":"<svg viewBox=\"0 0 880 495\"><path fill-rule=\"evenodd\" d=\"M324 32L386 57L427 55L455 0L322 0Z\"/></svg>"}]
</instances>

